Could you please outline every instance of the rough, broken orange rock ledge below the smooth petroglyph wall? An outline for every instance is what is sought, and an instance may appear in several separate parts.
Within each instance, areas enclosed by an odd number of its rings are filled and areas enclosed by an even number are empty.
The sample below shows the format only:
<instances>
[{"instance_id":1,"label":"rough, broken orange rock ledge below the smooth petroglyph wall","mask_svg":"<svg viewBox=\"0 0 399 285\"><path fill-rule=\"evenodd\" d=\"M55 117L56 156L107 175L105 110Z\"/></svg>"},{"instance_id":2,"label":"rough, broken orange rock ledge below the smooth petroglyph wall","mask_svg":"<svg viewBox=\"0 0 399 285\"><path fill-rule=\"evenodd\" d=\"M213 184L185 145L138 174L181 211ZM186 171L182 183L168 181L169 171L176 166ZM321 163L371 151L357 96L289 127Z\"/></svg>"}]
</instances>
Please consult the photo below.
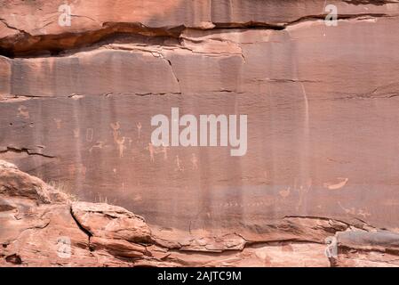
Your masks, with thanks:
<instances>
[{"instance_id":1,"label":"rough, broken orange rock ledge below the smooth petroglyph wall","mask_svg":"<svg viewBox=\"0 0 399 285\"><path fill-rule=\"evenodd\" d=\"M165 230L121 207L72 201L4 160L0 220L0 266L399 265L399 233L363 221L286 216L219 236Z\"/></svg>"}]
</instances>

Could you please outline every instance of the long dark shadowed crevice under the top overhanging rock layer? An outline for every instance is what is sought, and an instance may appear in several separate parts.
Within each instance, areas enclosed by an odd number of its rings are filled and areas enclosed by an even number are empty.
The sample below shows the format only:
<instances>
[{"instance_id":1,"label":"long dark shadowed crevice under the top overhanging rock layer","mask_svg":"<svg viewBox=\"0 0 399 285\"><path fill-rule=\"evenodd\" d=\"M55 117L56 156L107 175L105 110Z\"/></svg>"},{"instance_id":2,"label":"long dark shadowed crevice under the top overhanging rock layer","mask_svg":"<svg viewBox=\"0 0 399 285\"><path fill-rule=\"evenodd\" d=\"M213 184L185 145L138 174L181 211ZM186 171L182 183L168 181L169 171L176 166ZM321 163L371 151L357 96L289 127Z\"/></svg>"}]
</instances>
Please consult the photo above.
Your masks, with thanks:
<instances>
[{"instance_id":1,"label":"long dark shadowed crevice under the top overhanging rock layer","mask_svg":"<svg viewBox=\"0 0 399 285\"><path fill-rule=\"evenodd\" d=\"M359 13L359 14L342 14L338 16L338 20L361 20L363 18L382 18L396 17L397 15L388 15L385 13ZM326 14L307 15L297 20L287 23L270 24L266 22L249 21L243 23L223 23L214 22L213 28L196 28L199 30L218 30L218 29L272 29L283 30L291 25L298 24L303 21L324 20ZM3 19L2 22L4 22ZM7 25L4 22L5 25ZM7 26L8 27L8 26ZM9 27L12 28L12 27ZM15 57L36 57L40 55L58 56L69 50L80 49L88 46L98 45L102 41L107 41L118 35L124 36L141 36L147 38L166 37L179 41L181 33L185 28L184 25L177 27L161 27L150 28L139 22L105 22L102 28L98 30L84 31L81 33L64 33L60 35L41 35L32 36L23 30L13 28L19 31L17 35L4 37L0 39L0 55L8 58Z\"/></svg>"}]
</instances>

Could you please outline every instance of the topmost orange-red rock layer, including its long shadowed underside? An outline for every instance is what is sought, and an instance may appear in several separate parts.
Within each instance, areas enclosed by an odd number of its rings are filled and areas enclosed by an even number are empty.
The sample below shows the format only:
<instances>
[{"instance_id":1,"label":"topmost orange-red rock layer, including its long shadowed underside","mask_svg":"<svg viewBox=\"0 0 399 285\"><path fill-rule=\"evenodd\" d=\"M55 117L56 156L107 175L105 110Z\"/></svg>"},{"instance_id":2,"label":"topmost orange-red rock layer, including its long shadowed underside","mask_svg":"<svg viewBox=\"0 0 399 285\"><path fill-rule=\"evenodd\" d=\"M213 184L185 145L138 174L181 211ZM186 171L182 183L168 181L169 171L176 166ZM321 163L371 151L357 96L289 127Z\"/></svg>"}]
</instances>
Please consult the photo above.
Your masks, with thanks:
<instances>
[{"instance_id":1,"label":"topmost orange-red rock layer, including its long shadowed underside","mask_svg":"<svg viewBox=\"0 0 399 285\"><path fill-rule=\"evenodd\" d=\"M71 4L73 24L60 27L61 0L24 3L0 2L1 47L16 52L74 47L90 44L116 31L136 31L145 35L173 34L171 28L191 27L271 27L283 28L301 20L325 18L325 4L316 0L299 1L118 1L83 0ZM330 1L342 18L395 16L393 1ZM111 9L112 7L112 9ZM129 25L130 24L130 25ZM82 33L85 33L82 35Z\"/></svg>"}]
</instances>

